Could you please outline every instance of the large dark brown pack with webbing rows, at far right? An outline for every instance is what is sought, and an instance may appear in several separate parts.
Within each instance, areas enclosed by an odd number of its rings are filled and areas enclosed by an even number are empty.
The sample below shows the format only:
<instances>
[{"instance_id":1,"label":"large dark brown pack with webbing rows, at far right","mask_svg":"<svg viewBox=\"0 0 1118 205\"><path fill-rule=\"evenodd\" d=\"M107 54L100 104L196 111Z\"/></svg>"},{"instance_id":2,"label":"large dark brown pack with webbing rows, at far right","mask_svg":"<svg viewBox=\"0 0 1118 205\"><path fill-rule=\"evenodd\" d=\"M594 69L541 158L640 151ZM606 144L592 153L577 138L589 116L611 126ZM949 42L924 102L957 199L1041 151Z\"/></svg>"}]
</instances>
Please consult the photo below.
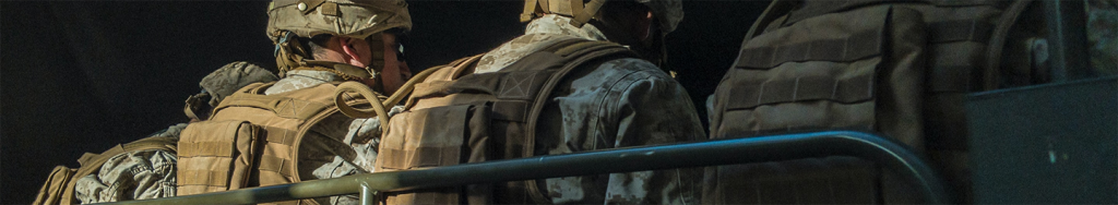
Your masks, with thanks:
<instances>
[{"instance_id":1,"label":"large dark brown pack with webbing rows, at far right","mask_svg":"<svg viewBox=\"0 0 1118 205\"><path fill-rule=\"evenodd\" d=\"M998 67L1006 60L1002 48L1031 2L774 1L712 97L711 137L831 128L883 133L929 156L966 204L963 99L1012 81ZM891 172L850 157L714 169L719 179L704 188L711 191L704 204L918 201ZM721 194L757 189L779 194Z\"/></svg>"}]
</instances>

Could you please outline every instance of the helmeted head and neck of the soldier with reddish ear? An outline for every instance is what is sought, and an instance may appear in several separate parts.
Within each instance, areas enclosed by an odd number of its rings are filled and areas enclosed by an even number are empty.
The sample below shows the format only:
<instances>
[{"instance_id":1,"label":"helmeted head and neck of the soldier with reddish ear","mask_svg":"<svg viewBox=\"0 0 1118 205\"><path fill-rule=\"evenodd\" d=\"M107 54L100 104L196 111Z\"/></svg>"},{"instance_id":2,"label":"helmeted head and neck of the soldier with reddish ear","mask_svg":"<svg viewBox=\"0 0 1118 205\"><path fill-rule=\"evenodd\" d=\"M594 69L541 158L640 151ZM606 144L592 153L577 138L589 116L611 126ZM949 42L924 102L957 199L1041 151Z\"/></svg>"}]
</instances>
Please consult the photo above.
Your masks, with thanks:
<instances>
[{"instance_id":1,"label":"helmeted head and neck of the soldier with reddish ear","mask_svg":"<svg viewBox=\"0 0 1118 205\"><path fill-rule=\"evenodd\" d=\"M397 41L410 29L404 0L276 0L268 9L267 35L285 80L267 92L334 79L391 94L410 76Z\"/></svg>"}]
</instances>

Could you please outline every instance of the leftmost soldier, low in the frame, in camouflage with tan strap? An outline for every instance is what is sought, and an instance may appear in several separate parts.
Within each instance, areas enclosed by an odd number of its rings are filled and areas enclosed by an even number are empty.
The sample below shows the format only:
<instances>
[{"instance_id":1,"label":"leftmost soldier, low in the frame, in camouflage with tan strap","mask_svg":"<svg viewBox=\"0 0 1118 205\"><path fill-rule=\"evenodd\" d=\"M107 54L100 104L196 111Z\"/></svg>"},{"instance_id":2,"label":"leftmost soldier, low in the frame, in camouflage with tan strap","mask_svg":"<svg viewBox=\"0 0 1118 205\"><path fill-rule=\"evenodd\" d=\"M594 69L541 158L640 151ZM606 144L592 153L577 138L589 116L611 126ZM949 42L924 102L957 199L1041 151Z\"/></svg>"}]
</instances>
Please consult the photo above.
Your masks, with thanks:
<instances>
[{"instance_id":1,"label":"leftmost soldier, low in the frame, in camouflage with tan strap","mask_svg":"<svg viewBox=\"0 0 1118 205\"><path fill-rule=\"evenodd\" d=\"M186 115L190 123L206 120L207 115L198 111L202 110L201 107L217 107L224 96L246 85L275 80L275 75L256 65L243 61L228 64L202 78L198 84L202 92L188 98ZM51 196L51 193L40 193L35 204L89 204L174 196L178 158L173 147L179 133L186 127L187 124L177 124L136 143L120 146L121 149L83 156L79 160L83 167L75 170L79 176L72 179L72 186L66 186L70 189L64 191L70 194L54 193Z\"/></svg>"}]
</instances>

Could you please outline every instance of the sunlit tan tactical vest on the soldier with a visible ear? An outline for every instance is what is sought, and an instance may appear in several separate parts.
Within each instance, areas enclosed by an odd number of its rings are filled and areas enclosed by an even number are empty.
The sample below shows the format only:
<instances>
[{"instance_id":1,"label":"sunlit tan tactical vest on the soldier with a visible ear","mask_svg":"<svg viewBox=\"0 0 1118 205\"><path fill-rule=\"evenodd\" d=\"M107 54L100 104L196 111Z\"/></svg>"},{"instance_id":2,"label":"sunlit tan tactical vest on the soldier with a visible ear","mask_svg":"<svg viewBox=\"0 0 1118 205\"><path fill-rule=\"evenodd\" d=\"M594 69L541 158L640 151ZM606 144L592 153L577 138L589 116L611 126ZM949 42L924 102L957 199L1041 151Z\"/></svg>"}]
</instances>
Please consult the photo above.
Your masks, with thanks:
<instances>
[{"instance_id":1,"label":"sunlit tan tactical vest on the soldier with a visible ear","mask_svg":"<svg viewBox=\"0 0 1118 205\"><path fill-rule=\"evenodd\" d=\"M273 84L241 88L222 100L209 120L182 130L178 195L300 182L295 162L303 137L315 124L340 115L332 96L337 85L265 96ZM367 104L363 99L347 102ZM345 150L352 152L341 152ZM312 199L287 203L318 204Z\"/></svg>"}]
</instances>

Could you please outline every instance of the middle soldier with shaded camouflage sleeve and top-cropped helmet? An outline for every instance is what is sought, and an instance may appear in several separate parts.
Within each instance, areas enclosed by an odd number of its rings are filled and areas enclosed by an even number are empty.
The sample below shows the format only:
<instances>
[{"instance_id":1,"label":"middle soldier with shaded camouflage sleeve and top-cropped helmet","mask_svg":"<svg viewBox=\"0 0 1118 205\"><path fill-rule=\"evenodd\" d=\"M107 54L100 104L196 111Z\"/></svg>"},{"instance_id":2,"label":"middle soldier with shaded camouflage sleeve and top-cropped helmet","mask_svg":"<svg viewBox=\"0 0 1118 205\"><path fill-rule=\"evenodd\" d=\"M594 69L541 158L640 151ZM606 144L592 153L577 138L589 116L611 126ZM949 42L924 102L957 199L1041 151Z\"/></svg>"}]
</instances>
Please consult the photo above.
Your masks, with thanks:
<instances>
[{"instance_id":1,"label":"middle soldier with shaded camouflage sleeve and top-cropped helmet","mask_svg":"<svg viewBox=\"0 0 1118 205\"><path fill-rule=\"evenodd\" d=\"M683 16L681 4L679 0L528 0L521 20L531 22L524 36L487 53L433 68L439 70L416 86L409 110L394 116L382 139L378 168L453 165L459 162L445 158L458 156L454 150L459 148L467 155L461 163L474 163L703 138L686 92L657 67L664 56L663 37ZM559 67L563 69L552 69ZM486 113L470 111L470 123L453 117L466 105L467 110L492 110L492 116L479 119ZM539 118L524 115L536 111ZM487 123L483 127L477 121ZM468 136L445 130L457 127L454 124L466 124ZM432 155L443 160L426 162ZM463 191L389 194L386 203L694 204L692 179L699 175L670 169L548 178L496 185L492 194L472 185Z\"/></svg>"}]
</instances>

